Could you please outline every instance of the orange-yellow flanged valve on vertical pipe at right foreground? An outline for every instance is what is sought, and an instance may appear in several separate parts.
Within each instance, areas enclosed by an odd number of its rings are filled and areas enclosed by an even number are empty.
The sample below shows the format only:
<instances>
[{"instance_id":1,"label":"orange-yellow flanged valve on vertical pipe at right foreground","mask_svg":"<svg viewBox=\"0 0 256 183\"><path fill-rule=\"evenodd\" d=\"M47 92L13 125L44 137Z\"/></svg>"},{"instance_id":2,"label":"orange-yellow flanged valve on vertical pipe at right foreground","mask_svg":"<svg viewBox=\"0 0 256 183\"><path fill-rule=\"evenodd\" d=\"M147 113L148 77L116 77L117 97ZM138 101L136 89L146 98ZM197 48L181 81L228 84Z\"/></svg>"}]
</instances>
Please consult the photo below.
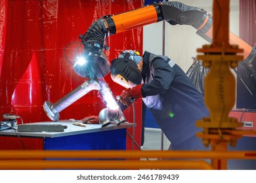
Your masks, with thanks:
<instances>
[{"instance_id":1,"label":"orange-yellow flanged valve on vertical pipe at right foreground","mask_svg":"<svg viewBox=\"0 0 256 183\"><path fill-rule=\"evenodd\" d=\"M240 126L235 118L229 118L228 114L235 103L235 78L230 71L235 68L243 56L237 53L243 52L237 45L229 44L229 18L221 12L229 12L229 1L213 3L213 42L198 49L204 55L198 55L203 60L205 67L209 67L209 73L205 77L205 105L210 112L210 118L198 122L198 127L235 129ZM205 133L208 133L205 131ZM205 143L207 145L209 143Z\"/></svg>"}]
</instances>

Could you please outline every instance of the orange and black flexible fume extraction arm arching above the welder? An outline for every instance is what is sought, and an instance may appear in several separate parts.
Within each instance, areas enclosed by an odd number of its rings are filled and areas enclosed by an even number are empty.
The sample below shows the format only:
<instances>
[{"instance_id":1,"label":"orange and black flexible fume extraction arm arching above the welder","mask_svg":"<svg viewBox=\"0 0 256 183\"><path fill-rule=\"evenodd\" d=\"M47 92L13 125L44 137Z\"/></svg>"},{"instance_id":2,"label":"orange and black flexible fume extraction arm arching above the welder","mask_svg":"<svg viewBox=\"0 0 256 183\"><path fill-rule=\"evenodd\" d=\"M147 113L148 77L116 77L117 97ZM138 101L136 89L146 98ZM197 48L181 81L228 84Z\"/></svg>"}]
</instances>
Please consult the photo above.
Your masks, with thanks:
<instances>
[{"instance_id":1,"label":"orange and black flexible fume extraction arm arching above the welder","mask_svg":"<svg viewBox=\"0 0 256 183\"><path fill-rule=\"evenodd\" d=\"M106 57L103 54L103 50L109 49L108 36L163 20L171 25L192 25L197 29L196 33L208 42L211 42L213 37L213 17L211 14L207 14L202 8L191 7L177 1L168 1L153 3L128 12L99 18L90 25L84 35L79 36L79 39L84 45L85 55L98 56L100 61L97 67L103 70L101 73L105 76L110 71L110 67L106 64ZM231 32L229 32L229 37L230 44L236 44L239 48L244 49L242 64L247 67L249 80L255 84L256 88L256 49ZM94 61L96 60L94 59ZM74 70L78 69L74 67ZM95 77L98 78L99 76ZM84 77L92 78L91 75L84 75Z\"/></svg>"}]
</instances>

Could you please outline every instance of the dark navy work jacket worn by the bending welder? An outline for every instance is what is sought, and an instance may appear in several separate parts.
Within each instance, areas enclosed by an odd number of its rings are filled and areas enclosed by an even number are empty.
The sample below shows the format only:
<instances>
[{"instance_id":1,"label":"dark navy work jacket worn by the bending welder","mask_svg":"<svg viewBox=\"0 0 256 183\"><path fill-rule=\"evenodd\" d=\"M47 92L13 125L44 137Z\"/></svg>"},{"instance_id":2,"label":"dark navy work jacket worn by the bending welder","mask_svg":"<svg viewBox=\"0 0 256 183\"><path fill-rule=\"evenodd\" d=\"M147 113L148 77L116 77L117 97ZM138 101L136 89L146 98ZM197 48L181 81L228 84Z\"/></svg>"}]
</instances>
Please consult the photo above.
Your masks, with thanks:
<instances>
[{"instance_id":1,"label":"dark navy work jacket worn by the bending welder","mask_svg":"<svg viewBox=\"0 0 256 183\"><path fill-rule=\"evenodd\" d=\"M196 120L209 112L202 94L178 65L165 56L144 52L142 78L143 101L172 144L202 131Z\"/></svg>"}]
</instances>

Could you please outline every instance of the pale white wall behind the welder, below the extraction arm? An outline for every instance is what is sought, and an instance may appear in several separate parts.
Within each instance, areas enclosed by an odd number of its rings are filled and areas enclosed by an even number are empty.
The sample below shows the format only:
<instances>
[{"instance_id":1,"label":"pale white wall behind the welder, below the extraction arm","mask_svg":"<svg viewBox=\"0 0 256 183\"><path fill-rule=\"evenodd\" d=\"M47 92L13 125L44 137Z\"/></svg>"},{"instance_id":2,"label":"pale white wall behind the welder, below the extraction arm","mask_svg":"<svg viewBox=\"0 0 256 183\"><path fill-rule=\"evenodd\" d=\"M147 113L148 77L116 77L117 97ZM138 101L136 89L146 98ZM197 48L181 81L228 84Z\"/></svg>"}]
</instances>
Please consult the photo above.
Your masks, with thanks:
<instances>
[{"instance_id":1,"label":"pale white wall behind the welder, below the extraction arm","mask_svg":"<svg viewBox=\"0 0 256 183\"><path fill-rule=\"evenodd\" d=\"M212 14L212 0L180 0L186 5L203 8ZM143 49L154 54L163 54L163 22L143 27ZM239 0L230 0L230 31L239 35ZM185 72L196 57L197 48L209 44L196 34L190 25L170 25L165 22L165 55L173 59Z\"/></svg>"}]
</instances>

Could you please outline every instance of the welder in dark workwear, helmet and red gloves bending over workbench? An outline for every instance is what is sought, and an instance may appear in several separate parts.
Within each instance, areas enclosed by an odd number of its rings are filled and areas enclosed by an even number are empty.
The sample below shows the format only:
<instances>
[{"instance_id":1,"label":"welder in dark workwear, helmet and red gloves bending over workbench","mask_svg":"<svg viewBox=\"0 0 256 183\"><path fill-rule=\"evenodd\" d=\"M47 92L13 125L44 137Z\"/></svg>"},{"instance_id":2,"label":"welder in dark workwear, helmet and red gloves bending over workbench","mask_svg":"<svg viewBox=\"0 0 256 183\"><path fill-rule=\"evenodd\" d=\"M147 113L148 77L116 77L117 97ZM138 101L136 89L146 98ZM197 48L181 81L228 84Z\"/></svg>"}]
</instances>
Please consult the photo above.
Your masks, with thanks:
<instances>
[{"instance_id":1,"label":"welder in dark workwear, helmet and red gloves bending over workbench","mask_svg":"<svg viewBox=\"0 0 256 183\"><path fill-rule=\"evenodd\" d=\"M145 51L123 51L112 60L111 78L126 89L120 95L123 110L142 98L171 142L169 150L206 150L196 133L196 120L209 116L203 95L179 65L166 56ZM97 116L83 120L96 123Z\"/></svg>"}]
</instances>

